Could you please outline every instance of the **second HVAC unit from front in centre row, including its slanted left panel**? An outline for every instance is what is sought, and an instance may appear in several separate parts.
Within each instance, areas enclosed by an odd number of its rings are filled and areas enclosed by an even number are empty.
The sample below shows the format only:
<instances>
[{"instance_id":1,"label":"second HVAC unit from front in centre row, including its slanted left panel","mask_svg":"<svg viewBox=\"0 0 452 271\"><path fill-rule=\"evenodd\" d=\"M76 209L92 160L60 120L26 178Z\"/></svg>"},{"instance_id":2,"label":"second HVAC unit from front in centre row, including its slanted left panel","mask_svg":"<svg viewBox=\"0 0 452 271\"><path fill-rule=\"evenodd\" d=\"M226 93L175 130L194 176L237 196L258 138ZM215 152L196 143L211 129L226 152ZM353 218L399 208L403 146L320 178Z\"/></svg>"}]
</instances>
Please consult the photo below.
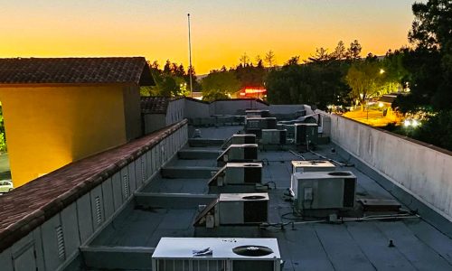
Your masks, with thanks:
<instances>
[{"instance_id":1,"label":"second HVAC unit from front in centre row, including its slanted left panel","mask_svg":"<svg viewBox=\"0 0 452 271\"><path fill-rule=\"evenodd\" d=\"M222 193L194 220L194 226L257 225L268 221L268 193Z\"/></svg>"}]
</instances>

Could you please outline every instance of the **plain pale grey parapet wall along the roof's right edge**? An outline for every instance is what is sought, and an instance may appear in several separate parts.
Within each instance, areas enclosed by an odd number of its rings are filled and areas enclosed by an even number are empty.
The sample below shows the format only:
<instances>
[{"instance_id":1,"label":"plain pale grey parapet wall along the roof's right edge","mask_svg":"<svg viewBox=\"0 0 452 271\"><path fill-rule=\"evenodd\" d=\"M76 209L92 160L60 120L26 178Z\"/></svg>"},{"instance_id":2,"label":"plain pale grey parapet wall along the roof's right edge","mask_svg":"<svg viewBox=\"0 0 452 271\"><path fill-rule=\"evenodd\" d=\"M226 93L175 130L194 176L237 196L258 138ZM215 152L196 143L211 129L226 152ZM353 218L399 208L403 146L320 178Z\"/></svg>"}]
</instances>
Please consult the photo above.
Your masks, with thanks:
<instances>
[{"instance_id":1,"label":"plain pale grey parapet wall along the roof's right edge","mask_svg":"<svg viewBox=\"0 0 452 271\"><path fill-rule=\"evenodd\" d=\"M331 140L452 221L452 153L404 136L331 117Z\"/></svg>"}]
</instances>

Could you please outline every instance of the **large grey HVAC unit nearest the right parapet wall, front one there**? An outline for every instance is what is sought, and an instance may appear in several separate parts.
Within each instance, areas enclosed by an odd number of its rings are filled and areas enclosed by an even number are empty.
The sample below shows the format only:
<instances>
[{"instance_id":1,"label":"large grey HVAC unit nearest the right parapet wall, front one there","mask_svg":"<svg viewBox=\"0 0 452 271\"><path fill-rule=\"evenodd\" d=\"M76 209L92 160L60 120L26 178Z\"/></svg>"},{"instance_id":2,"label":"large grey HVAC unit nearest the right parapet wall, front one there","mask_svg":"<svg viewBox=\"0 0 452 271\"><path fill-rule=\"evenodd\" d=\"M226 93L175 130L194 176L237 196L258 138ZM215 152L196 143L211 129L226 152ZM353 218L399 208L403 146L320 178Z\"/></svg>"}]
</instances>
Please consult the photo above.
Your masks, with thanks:
<instances>
[{"instance_id":1,"label":"large grey HVAC unit nearest the right parapet wall, front one there","mask_svg":"<svg viewBox=\"0 0 452 271\"><path fill-rule=\"evenodd\" d=\"M298 210L354 207L356 177L351 172L295 173L293 178Z\"/></svg>"}]
</instances>

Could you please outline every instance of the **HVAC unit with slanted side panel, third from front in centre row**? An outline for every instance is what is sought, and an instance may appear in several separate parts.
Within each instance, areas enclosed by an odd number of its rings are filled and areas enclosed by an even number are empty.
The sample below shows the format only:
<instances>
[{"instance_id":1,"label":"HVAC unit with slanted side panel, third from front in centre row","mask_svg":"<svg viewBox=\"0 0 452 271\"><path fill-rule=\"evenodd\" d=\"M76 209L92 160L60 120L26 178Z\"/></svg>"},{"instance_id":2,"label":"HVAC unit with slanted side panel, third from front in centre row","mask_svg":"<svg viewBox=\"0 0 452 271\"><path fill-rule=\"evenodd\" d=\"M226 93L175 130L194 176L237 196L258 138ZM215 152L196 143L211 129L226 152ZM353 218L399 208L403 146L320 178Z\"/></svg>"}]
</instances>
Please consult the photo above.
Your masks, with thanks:
<instances>
[{"instance_id":1,"label":"HVAC unit with slanted side panel, third from front in centre row","mask_svg":"<svg viewBox=\"0 0 452 271\"><path fill-rule=\"evenodd\" d=\"M262 163L228 163L215 173L209 185L255 185L260 182L262 182Z\"/></svg>"}]
</instances>

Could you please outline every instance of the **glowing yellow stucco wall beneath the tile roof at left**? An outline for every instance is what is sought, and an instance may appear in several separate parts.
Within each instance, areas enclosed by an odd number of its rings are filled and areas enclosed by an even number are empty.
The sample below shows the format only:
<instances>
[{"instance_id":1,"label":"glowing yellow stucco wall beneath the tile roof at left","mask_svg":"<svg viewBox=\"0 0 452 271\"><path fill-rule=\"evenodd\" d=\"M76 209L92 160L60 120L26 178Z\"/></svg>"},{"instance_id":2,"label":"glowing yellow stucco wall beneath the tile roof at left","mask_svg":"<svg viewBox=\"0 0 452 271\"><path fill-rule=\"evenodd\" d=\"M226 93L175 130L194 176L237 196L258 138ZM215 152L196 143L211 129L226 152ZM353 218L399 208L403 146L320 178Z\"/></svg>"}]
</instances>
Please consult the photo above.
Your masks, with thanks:
<instances>
[{"instance_id":1,"label":"glowing yellow stucco wall beneath the tile roof at left","mask_svg":"<svg viewBox=\"0 0 452 271\"><path fill-rule=\"evenodd\" d=\"M126 143L123 87L0 88L14 187Z\"/></svg>"}]
</instances>

